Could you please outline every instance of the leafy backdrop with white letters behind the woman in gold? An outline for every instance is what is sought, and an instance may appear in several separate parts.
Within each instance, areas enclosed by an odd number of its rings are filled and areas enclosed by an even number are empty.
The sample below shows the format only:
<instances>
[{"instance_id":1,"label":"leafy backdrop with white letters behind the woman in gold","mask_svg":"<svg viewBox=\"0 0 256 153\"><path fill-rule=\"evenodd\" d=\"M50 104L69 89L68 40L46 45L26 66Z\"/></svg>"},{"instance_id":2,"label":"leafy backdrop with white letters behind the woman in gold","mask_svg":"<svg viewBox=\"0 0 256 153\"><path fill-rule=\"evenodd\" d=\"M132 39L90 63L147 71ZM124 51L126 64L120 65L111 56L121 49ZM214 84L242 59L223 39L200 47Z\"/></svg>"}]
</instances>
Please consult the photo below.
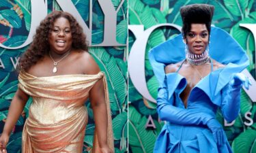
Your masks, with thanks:
<instances>
[{"instance_id":1,"label":"leafy backdrop with white letters behind the woman in gold","mask_svg":"<svg viewBox=\"0 0 256 153\"><path fill-rule=\"evenodd\" d=\"M128 151L128 71L126 41L128 37L127 0L1 0L0 1L0 133L8 108L17 90L16 71L20 55L27 50L39 22L50 12L70 12L82 25L90 46L89 53L106 74L115 152ZM21 152L21 136L29 105L12 130L8 153ZM89 122L83 152L91 152L95 124L89 101Z\"/></svg>"}]
</instances>

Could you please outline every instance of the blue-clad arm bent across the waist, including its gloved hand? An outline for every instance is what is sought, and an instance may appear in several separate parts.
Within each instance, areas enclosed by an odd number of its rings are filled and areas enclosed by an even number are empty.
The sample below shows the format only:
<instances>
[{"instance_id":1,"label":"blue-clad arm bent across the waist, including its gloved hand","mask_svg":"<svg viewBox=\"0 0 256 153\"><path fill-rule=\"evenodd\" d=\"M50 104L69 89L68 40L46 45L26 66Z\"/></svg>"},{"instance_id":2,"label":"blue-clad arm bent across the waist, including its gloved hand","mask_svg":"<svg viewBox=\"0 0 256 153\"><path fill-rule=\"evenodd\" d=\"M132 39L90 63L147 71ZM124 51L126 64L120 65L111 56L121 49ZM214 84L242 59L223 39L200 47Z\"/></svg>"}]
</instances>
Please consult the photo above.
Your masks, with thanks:
<instances>
[{"instance_id":1,"label":"blue-clad arm bent across the waist, including its gloved hand","mask_svg":"<svg viewBox=\"0 0 256 153\"><path fill-rule=\"evenodd\" d=\"M157 111L161 120L182 125L206 125L212 131L214 141L218 146L225 143L225 132L223 127L214 116L199 111L184 109L173 106L174 94L168 99L166 79L164 85L158 88Z\"/></svg>"}]
</instances>

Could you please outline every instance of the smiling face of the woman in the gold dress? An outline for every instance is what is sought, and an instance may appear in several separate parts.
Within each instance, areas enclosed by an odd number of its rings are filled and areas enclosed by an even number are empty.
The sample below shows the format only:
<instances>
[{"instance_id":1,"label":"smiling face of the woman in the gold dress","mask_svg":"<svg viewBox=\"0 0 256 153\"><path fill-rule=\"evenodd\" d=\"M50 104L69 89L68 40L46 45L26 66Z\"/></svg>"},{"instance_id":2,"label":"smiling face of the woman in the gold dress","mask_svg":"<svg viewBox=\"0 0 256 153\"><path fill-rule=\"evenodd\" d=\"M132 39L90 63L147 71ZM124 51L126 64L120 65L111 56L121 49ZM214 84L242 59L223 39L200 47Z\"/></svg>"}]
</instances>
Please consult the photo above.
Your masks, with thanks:
<instances>
[{"instance_id":1,"label":"smiling face of the woman in the gold dress","mask_svg":"<svg viewBox=\"0 0 256 153\"><path fill-rule=\"evenodd\" d=\"M72 48L72 34L68 19L60 17L55 20L48 41L50 50L57 54L64 54Z\"/></svg>"}]
</instances>

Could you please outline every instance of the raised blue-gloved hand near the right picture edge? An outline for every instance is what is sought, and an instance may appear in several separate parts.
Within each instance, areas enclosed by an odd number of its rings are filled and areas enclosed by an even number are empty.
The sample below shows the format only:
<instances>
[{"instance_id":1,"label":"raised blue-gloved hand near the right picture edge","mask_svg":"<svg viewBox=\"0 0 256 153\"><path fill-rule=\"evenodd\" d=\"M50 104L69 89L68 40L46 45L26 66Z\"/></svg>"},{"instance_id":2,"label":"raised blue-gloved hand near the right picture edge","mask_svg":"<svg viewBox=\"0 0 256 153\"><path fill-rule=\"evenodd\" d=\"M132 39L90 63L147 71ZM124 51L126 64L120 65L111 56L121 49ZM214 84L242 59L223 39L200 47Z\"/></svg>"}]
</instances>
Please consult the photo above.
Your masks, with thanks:
<instances>
[{"instance_id":1,"label":"raised blue-gloved hand near the right picture edge","mask_svg":"<svg viewBox=\"0 0 256 153\"><path fill-rule=\"evenodd\" d=\"M230 84L231 86L244 85L244 88L248 90L249 86L251 85L251 80L249 80L249 78L243 73L236 73L235 75L233 75L233 80L231 80Z\"/></svg>"}]
</instances>

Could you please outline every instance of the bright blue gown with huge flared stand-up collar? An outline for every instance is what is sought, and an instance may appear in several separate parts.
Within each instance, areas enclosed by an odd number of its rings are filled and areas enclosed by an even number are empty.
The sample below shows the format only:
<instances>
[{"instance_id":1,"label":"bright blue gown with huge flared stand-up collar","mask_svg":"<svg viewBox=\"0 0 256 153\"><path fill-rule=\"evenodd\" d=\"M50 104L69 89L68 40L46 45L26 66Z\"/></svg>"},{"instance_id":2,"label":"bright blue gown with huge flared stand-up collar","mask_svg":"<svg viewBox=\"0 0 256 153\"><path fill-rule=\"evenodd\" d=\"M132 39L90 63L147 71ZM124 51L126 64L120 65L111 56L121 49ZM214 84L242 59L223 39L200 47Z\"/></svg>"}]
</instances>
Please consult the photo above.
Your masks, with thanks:
<instances>
[{"instance_id":1,"label":"bright blue gown with huge flared stand-up collar","mask_svg":"<svg viewBox=\"0 0 256 153\"><path fill-rule=\"evenodd\" d=\"M168 120L167 124L162 127L154 146L155 153L232 152L227 138L222 146L217 146L208 126L197 124L197 120L208 116L215 118L218 107L222 109L224 105L223 101L227 96L224 93L232 74L239 73L247 67L248 57L240 45L222 29L212 27L210 41L210 57L226 66L212 71L196 84L188 97L186 110L182 99L180 99L180 93L186 87L186 78L177 72L165 75L166 65L185 59L182 35L165 41L150 51L150 63L160 83L160 88L167 89L167 92L158 90L158 114L162 118L172 118L171 120L176 122ZM240 104L239 101L238 104ZM234 110L237 115L240 111L239 106ZM175 114L184 110L190 113L190 116L176 120ZM222 109L222 111L226 120L236 118L236 116L225 114L225 110ZM207 114L207 116L203 114ZM189 124L190 122L196 124Z\"/></svg>"}]
</instances>

